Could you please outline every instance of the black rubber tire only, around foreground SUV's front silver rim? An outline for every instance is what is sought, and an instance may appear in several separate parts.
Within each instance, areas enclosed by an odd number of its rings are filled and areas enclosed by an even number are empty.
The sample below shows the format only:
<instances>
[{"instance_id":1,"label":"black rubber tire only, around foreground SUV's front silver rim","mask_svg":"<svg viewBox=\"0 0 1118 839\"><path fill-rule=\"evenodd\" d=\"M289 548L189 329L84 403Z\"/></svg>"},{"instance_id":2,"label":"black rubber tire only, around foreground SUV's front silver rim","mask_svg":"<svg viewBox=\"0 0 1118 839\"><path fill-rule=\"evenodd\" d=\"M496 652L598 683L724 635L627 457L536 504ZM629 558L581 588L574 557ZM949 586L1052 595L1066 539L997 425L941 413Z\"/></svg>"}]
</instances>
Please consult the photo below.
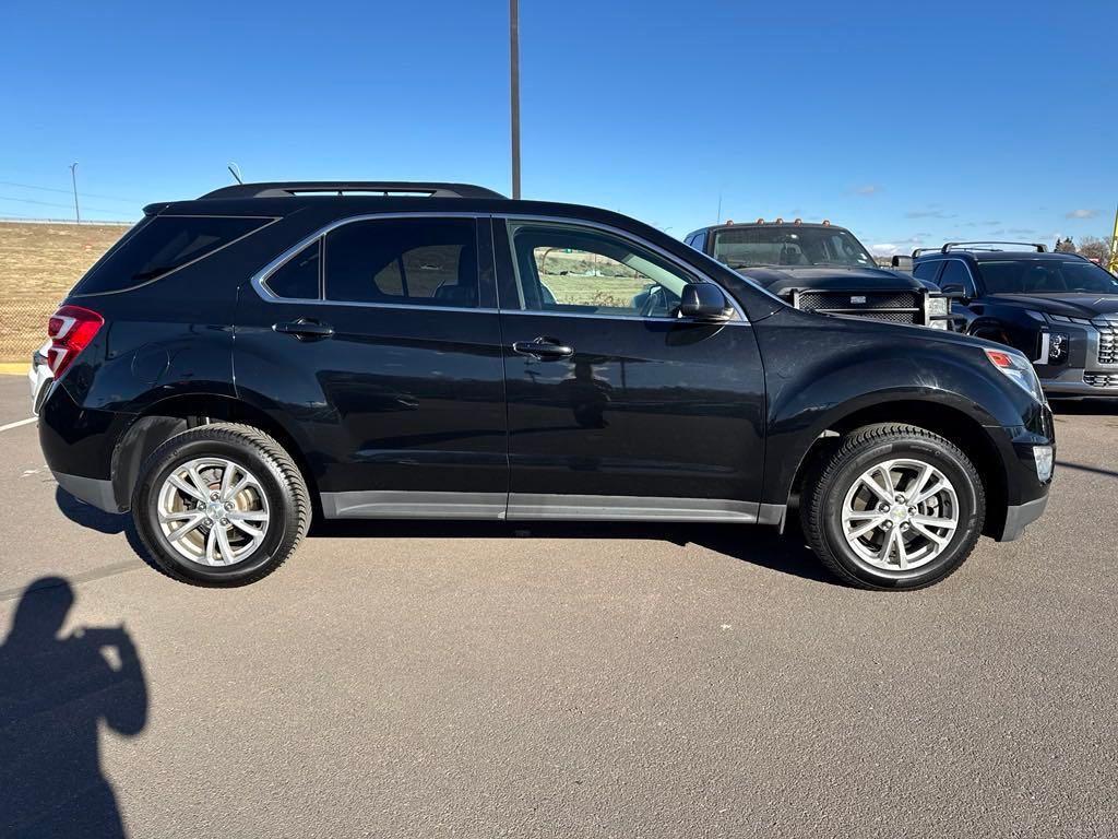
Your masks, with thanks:
<instances>
[{"instance_id":1,"label":"black rubber tire only, around foreground SUV's front silver rim","mask_svg":"<svg viewBox=\"0 0 1118 839\"><path fill-rule=\"evenodd\" d=\"M954 486L959 507L958 526L946 547L927 565L908 572L871 566L850 546L842 524L846 493L859 477L894 459L918 460L938 469ZM925 428L880 424L843 437L808 475L799 509L808 544L840 581L861 588L910 591L938 583L963 565L982 535L986 497L974 464L957 445Z\"/></svg>"}]
</instances>

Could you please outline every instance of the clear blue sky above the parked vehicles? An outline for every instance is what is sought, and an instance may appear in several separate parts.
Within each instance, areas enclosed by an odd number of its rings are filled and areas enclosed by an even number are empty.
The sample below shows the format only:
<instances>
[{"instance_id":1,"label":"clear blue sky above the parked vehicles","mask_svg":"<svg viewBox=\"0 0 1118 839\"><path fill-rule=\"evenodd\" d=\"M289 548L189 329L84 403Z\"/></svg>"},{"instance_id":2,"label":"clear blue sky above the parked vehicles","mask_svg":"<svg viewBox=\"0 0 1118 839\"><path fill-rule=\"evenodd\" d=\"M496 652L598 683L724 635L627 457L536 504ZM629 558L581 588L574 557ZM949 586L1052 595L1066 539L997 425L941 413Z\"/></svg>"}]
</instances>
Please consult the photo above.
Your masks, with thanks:
<instances>
[{"instance_id":1,"label":"clear blue sky above the parked vehicles","mask_svg":"<svg viewBox=\"0 0 1118 839\"><path fill-rule=\"evenodd\" d=\"M0 216L67 217L73 161L106 219L230 160L510 189L505 0L0 6ZM521 0L523 194L676 236L721 195L881 252L1107 235L1115 32L1112 0Z\"/></svg>"}]
</instances>

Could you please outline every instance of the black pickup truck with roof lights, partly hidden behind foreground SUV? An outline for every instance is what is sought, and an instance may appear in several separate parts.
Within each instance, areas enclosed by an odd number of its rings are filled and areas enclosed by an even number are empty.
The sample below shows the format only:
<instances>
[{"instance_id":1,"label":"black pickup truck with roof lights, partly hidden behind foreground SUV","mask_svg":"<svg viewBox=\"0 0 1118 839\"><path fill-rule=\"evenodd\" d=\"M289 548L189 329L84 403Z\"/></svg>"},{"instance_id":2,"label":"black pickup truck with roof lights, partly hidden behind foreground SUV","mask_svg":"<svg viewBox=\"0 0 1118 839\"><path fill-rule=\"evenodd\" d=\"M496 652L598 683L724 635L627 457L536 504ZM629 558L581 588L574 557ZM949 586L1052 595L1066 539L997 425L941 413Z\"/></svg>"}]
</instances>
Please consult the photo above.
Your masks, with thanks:
<instances>
[{"instance_id":1,"label":"black pickup truck with roof lights, partly hidden behind foreground SUV","mask_svg":"<svg viewBox=\"0 0 1118 839\"><path fill-rule=\"evenodd\" d=\"M947 329L949 304L935 284L879 267L854 234L830 221L727 221L684 242L796 309Z\"/></svg>"}]
</instances>

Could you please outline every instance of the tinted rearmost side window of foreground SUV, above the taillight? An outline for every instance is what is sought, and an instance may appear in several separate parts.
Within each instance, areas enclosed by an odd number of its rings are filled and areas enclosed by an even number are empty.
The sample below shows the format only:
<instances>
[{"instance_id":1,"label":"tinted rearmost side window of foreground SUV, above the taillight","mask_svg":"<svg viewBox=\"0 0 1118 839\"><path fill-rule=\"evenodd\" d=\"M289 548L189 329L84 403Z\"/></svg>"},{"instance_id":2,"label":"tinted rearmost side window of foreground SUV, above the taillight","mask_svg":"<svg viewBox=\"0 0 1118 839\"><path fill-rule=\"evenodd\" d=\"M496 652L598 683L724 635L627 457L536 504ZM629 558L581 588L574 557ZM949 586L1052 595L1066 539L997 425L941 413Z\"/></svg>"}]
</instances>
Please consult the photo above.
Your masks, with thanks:
<instances>
[{"instance_id":1,"label":"tinted rearmost side window of foreground SUV, above the taillight","mask_svg":"<svg viewBox=\"0 0 1118 839\"><path fill-rule=\"evenodd\" d=\"M225 216L155 216L141 221L94 265L74 294L123 291L158 280L247 236L269 218Z\"/></svg>"}]
</instances>

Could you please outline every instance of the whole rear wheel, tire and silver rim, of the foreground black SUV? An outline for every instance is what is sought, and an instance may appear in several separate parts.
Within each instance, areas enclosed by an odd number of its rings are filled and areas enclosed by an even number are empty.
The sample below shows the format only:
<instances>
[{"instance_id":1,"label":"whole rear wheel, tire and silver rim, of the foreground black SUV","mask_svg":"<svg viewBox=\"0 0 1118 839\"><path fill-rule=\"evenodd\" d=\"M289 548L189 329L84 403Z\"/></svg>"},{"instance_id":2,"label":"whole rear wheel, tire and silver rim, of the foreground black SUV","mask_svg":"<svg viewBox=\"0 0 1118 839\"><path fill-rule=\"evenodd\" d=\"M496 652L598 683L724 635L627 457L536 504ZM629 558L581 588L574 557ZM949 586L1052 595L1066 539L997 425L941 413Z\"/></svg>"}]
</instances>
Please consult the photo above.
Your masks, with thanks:
<instances>
[{"instance_id":1,"label":"whole rear wheel, tire and silver rim, of the foreground black SUV","mask_svg":"<svg viewBox=\"0 0 1118 839\"><path fill-rule=\"evenodd\" d=\"M152 452L132 496L136 530L169 575L243 585L278 568L306 534L310 496L275 440L219 423Z\"/></svg>"}]
</instances>

